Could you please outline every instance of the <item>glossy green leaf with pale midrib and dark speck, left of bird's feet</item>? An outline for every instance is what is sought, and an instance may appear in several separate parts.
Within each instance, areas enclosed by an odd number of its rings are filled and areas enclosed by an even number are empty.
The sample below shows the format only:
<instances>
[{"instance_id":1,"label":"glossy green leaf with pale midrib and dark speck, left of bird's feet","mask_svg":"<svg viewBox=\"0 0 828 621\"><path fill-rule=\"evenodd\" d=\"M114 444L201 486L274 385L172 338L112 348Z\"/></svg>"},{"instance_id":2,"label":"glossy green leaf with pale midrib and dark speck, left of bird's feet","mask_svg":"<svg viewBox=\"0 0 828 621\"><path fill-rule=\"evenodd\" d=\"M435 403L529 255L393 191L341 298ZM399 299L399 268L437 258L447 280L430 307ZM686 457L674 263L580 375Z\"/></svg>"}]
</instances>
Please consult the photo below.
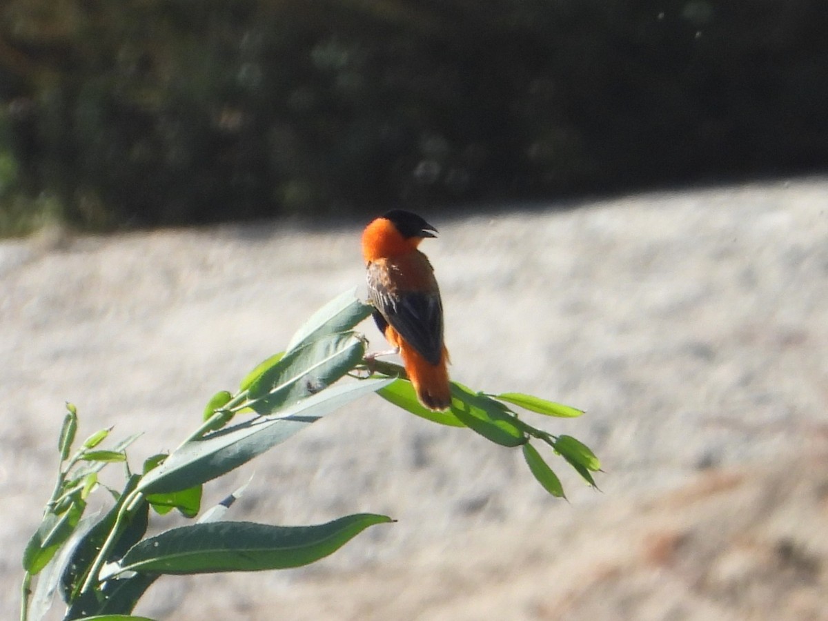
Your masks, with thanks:
<instances>
[{"instance_id":1,"label":"glossy green leaf with pale midrib and dark speck, left of bird's feet","mask_svg":"<svg viewBox=\"0 0 828 621\"><path fill-rule=\"evenodd\" d=\"M365 344L354 332L320 337L294 349L248 388L250 407L262 415L320 392L363 359Z\"/></svg>"}]
</instances>

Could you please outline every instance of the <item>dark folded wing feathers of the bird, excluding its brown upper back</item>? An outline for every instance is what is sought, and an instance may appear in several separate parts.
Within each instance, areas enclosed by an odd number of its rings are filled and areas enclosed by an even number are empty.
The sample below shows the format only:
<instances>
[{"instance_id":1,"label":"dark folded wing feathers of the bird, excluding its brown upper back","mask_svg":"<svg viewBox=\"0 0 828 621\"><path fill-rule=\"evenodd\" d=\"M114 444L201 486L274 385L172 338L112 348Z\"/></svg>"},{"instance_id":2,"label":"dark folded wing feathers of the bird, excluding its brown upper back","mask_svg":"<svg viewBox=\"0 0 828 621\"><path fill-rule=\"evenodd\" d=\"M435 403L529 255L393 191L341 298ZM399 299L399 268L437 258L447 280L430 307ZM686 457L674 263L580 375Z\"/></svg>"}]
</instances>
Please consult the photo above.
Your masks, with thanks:
<instances>
[{"instance_id":1,"label":"dark folded wing feathers of the bird, excluding its brown upper back","mask_svg":"<svg viewBox=\"0 0 828 621\"><path fill-rule=\"evenodd\" d=\"M440 291L436 286L433 291L392 291L386 275L372 267L368 267L368 292L373 306L424 359L431 364L440 363L443 355Z\"/></svg>"}]
</instances>

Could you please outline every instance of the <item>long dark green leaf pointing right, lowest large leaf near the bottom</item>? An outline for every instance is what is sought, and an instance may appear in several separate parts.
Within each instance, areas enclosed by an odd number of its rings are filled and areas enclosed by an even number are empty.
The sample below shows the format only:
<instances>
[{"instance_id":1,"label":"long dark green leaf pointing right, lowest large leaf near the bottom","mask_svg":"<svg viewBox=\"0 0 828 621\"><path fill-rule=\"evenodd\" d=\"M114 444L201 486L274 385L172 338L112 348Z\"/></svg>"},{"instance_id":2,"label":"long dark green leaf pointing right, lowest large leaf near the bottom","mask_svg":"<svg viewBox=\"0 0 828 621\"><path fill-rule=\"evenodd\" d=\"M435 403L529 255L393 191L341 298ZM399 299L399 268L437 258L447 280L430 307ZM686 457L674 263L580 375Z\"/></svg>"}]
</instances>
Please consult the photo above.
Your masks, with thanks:
<instances>
[{"instance_id":1,"label":"long dark green leaf pointing right, lowest large leaf near the bottom","mask_svg":"<svg viewBox=\"0 0 828 621\"><path fill-rule=\"evenodd\" d=\"M122 571L202 574L299 567L344 546L373 524L390 517L358 513L333 522L282 527L253 522L209 522L173 528L128 551Z\"/></svg>"}]
</instances>

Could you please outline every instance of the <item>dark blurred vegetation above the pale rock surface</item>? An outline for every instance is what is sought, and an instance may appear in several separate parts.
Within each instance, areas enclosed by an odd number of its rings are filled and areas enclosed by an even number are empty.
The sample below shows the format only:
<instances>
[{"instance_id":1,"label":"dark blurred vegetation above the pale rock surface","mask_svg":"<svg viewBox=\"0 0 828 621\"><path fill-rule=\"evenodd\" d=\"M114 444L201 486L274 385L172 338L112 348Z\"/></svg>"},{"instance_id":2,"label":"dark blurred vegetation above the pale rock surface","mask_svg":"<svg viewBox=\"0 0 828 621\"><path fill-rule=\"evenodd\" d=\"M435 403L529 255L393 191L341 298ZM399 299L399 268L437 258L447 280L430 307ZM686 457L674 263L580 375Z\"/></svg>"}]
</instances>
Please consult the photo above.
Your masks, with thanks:
<instances>
[{"instance_id":1,"label":"dark blurred vegetation above the pale rock surface","mask_svg":"<svg viewBox=\"0 0 828 621\"><path fill-rule=\"evenodd\" d=\"M0 233L828 163L823 0L3 0Z\"/></svg>"}]
</instances>

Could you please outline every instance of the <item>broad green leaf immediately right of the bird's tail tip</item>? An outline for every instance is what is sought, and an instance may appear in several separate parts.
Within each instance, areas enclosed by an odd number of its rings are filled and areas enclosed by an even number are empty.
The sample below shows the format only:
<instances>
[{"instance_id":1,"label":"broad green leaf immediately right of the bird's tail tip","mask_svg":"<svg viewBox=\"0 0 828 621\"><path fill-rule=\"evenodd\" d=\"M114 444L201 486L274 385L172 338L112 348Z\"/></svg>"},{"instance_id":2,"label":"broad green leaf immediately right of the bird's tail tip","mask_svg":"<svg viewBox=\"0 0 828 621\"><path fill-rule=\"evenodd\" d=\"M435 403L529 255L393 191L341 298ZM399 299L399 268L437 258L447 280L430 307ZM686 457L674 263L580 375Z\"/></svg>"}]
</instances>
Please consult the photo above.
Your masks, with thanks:
<instances>
[{"instance_id":1,"label":"broad green leaf immediately right of the bird's tail tip","mask_svg":"<svg viewBox=\"0 0 828 621\"><path fill-rule=\"evenodd\" d=\"M503 446L519 446L527 441L515 417L502 403L486 397L460 383L451 383L451 413L472 431Z\"/></svg>"}]
</instances>

